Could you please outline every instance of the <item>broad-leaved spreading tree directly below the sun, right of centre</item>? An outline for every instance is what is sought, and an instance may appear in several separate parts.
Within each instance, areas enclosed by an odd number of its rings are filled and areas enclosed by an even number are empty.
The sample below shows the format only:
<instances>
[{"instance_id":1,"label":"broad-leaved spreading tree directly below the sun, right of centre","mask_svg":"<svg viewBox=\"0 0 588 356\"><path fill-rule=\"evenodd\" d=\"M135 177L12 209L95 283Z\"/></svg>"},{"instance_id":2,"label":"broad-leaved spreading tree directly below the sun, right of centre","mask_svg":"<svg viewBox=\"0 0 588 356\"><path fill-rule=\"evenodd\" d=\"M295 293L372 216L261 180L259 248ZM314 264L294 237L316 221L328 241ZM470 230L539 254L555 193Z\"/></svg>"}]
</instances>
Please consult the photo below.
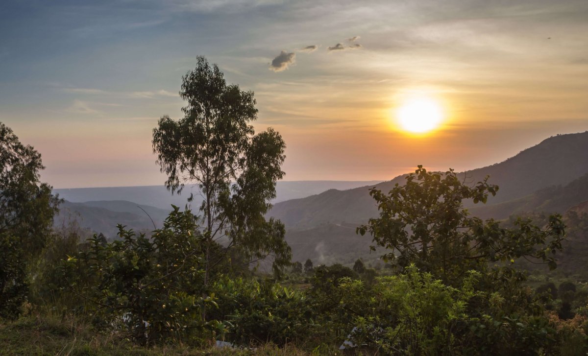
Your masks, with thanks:
<instances>
[{"instance_id":1,"label":"broad-leaved spreading tree directly below the sun, right of centre","mask_svg":"<svg viewBox=\"0 0 588 356\"><path fill-rule=\"evenodd\" d=\"M551 216L544 229L529 219L518 219L514 228L505 229L495 220L470 217L463 208L463 200L486 203L497 190L487 177L470 187L453 170L443 174L419 166L404 186L396 184L387 194L370 190L380 217L357 232L370 233L376 246L389 250L383 257L398 266L415 263L446 280L483 268L487 262L514 262L519 257L537 258L555 268L554 254L564 239L560 216Z\"/></svg>"}]
</instances>

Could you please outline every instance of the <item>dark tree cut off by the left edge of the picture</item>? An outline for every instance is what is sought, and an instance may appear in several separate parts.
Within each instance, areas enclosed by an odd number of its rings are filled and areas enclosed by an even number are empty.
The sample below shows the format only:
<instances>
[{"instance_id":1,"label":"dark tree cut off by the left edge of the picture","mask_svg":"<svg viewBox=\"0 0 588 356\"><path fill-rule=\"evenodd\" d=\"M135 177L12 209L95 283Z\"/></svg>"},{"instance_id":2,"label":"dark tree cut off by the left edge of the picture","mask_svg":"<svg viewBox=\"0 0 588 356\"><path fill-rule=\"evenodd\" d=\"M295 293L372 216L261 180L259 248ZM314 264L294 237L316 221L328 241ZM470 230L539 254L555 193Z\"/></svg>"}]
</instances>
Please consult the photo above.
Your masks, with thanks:
<instances>
[{"instance_id":1,"label":"dark tree cut off by the left edge of the picture","mask_svg":"<svg viewBox=\"0 0 588 356\"><path fill-rule=\"evenodd\" d=\"M0 122L0 317L16 317L26 298L26 269L53 226L60 200L41 183L41 155Z\"/></svg>"}]
</instances>

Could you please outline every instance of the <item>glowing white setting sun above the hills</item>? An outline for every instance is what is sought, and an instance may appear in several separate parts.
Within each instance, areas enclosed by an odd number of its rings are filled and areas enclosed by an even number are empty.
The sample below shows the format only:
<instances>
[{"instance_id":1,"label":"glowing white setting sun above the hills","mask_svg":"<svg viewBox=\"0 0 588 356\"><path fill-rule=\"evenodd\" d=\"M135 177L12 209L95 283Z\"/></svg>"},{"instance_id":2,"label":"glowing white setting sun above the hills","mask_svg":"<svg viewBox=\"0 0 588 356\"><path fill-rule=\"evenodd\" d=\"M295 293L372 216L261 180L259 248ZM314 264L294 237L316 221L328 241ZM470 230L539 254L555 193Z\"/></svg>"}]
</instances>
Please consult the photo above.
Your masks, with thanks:
<instances>
[{"instance_id":1,"label":"glowing white setting sun above the hills","mask_svg":"<svg viewBox=\"0 0 588 356\"><path fill-rule=\"evenodd\" d=\"M426 133L436 129L443 120L439 103L429 96L407 99L396 110L396 120L403 130L412 133Z\"/></svg>"}]
</instances>

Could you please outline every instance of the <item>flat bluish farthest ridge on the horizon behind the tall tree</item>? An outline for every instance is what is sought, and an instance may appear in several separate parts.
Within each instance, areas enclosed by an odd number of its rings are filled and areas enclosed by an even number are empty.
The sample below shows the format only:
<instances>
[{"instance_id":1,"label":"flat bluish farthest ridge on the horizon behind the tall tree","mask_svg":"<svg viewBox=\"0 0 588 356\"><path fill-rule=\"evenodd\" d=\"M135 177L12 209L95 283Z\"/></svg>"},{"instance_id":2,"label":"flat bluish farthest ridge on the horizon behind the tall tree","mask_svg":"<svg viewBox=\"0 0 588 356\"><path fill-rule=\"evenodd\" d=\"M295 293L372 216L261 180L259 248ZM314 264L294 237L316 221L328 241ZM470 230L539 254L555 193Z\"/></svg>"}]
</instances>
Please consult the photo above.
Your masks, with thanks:
<instances>
[{"instance_id":1,"label":"flat bluish farthest ridge on the horizon behind the tall tree","mask_svg":"<svg viewBox=\"0 0 588 356\"><path fill-rule=\"evenodd\" d=\"M274 203L289 199L307 197L313 194L325 192L328 189L350 189L366 184L376 184L379 181L339 181L339 180L300 180L295 182L278 182L276 184L277 197ZM161 186L138 187L98 187L54 189L65 200L74 203L98 200L126 200L136 204L158 207L159 209L171 209L171 205L183 208L191 193L194 194L192 207L199 207L201 200L198 195L198 187L186 186L181 195L172 195L163 184ZM126 211L126 210L125 210Z\"/></svg>"}]
</instances>

